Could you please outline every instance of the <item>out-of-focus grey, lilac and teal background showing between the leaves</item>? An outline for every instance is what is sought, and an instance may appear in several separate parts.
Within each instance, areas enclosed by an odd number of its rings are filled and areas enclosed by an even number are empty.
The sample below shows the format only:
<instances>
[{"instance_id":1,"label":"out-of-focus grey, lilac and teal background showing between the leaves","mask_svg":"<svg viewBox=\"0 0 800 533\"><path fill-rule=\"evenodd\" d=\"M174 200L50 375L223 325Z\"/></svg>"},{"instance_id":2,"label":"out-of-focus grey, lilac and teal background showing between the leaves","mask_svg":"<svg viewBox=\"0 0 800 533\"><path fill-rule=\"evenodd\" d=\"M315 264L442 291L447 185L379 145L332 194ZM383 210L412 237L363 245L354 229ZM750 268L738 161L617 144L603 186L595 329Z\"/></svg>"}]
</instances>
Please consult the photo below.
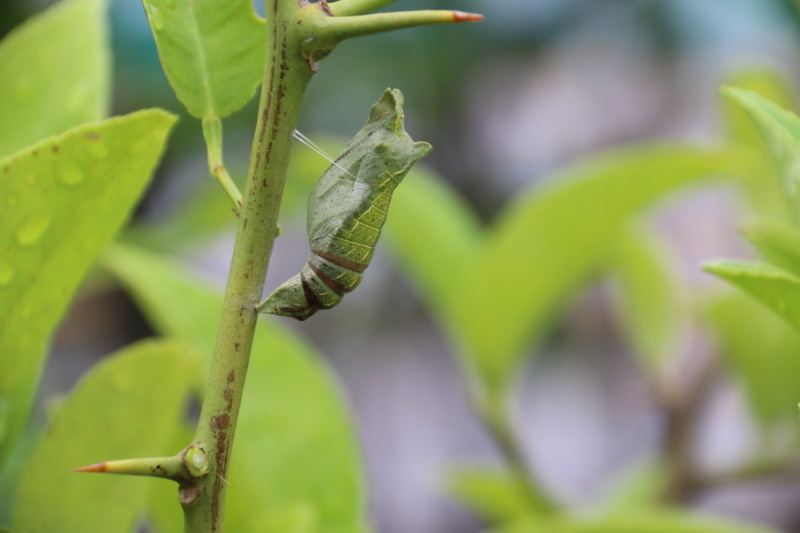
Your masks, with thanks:
<instances>
[{"instance_id":1,"label":"out-of-focus grey, lilac and teal background showing between the leaves","mask_svg":"<svg viewBox=\"0 0 800 533\"><path fill-rule=\"evenodd\" d=\"M51 3L3 0L0 34ZM111 6L113 114L162 107L181 116L129 238L169 247L223 285L233 217L207 173L199 122L166 81L141 4ZM800 11L790 0L398 0L392 7L456 8L486 20L345 42L312 81L298 128L320 143L349 138L384 88L400 88L409 132L435 147L425 164L487 222L519 191L588 154L653 140L718 144L718 87L741 69L774 70L795 87L800 81ZM225 120L226 164L237 179L255 110L252 102ZM191 232L173 223L187 202L208 209ZM282 217L268 289L307 253L301 197L294 202ZM702 261L752 256L736 233L740 219L735 195L720 184L653 213L687 293L720 284L700 271ZM608 313L609 290L600 280L569 304L536 348L515 406L529 461L558 500L578 509L604 501L663 437L661 412ZM460 464L491 464L496 452L470 411L453 350L385 247L335 312L291 326L329 358L350 399L377 529L479 531L479 519L447 495L447 476ZM683 329L675 367L691 372L714 349L700 324ZM124 294L87 291L54 341L42 409L97 358L149 334ZM737 379L720 372L704 393L695 452L705 468L722 470L761 441ZM790 420L777 440L794 442L798 423ZM800 531L800 475L782 470L723 484L688 504Z\"/></svg>"}]
</instances>

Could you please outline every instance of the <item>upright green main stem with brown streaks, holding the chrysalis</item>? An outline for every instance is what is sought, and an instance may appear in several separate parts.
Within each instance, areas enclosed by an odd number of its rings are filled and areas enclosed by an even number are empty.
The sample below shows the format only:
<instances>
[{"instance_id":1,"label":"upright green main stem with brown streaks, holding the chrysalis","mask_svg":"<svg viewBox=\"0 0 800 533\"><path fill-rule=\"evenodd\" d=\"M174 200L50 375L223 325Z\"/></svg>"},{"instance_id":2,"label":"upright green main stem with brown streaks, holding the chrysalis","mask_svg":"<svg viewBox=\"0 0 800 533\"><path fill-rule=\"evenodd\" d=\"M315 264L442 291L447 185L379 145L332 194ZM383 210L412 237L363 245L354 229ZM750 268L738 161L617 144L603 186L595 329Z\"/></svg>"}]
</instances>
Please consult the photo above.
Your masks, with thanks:
<instances>
[{"instance_id":1,"label":"upright green main stem with brown streaks, holding the chrysalis","mask_svg":"<svg viewBox=\"0 0 800 533\"><path fill-rule=\"evenodd\" d=\"M267 2L267 58L233 259L208 387L194 442L207 450L210 475L181 487L187 533L222 532L236 420L272 244L292 131L312 72L289 31L296 0Z\"/></svg>"}]
</instances>

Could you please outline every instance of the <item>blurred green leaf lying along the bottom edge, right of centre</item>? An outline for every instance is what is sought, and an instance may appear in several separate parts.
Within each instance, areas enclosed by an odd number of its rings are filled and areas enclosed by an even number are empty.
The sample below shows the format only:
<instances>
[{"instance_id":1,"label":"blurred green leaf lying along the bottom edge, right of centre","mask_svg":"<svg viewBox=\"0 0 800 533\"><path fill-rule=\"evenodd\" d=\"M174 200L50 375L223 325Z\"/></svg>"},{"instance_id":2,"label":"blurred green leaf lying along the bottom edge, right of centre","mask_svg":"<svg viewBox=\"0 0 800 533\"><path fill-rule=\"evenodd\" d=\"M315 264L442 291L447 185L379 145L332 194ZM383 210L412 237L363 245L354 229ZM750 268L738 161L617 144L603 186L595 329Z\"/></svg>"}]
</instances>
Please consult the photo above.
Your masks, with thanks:
<instances>
[{"instance_id":1,"label":"blurred green leaf lying along the bottom edge, right of centre","mask_svg":"<svg viewBox=\"0 0 800 533\"><path fill-rule=\"evenodd\" d=\"M493 530L494 533L777 533L722 518L681 512L653 511L625 514L599 520L533 519Z\"/></svg>"}]
</instances>

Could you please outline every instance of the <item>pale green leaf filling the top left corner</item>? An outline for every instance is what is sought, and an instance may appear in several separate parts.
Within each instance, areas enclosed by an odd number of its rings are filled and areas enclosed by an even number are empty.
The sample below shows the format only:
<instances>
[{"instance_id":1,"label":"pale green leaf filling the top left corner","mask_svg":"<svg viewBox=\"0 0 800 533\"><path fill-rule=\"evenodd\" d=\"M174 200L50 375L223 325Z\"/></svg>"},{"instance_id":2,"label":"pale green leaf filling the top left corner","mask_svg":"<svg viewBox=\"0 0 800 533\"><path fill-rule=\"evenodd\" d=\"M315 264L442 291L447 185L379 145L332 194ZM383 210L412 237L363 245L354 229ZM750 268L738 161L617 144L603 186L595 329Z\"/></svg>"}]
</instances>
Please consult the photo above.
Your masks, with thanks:
<instances>
[{"instance_id":1,"label":"pale green leaf filling the top left corner","mask_svg":"<svg viewBox=\"0 0 800 533\"><path fill-rule=\"evenodd\" d=\"M0 157L106 116L104 0L57 3L0 42Z\"/></svg>"}]
</instances>

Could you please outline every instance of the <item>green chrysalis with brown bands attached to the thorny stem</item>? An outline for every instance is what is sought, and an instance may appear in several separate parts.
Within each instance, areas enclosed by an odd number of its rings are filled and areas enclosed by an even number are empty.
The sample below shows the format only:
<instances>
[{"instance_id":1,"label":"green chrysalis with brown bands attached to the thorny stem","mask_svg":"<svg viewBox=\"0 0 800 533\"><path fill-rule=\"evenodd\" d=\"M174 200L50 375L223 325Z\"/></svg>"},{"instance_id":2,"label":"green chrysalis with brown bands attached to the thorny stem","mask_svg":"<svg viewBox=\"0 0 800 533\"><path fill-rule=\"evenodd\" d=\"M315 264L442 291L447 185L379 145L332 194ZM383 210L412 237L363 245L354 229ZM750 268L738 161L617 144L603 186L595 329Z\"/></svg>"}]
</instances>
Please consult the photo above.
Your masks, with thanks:
<instances>
[{"instance_id":1,"label":"green chrysalis with brown bands attached to the thorny stem","mask_svg":"<svg viewBox=\"0 0 800 533\"><path fill-rule=\"evenodd\" d=\"M258 311L305 320L355 289L372 260L392 192L430 151L430 144L414 142L403 127L402 93L386 89L308 199L311 251L305 266Z\"/></svg>"}]
</instances>

